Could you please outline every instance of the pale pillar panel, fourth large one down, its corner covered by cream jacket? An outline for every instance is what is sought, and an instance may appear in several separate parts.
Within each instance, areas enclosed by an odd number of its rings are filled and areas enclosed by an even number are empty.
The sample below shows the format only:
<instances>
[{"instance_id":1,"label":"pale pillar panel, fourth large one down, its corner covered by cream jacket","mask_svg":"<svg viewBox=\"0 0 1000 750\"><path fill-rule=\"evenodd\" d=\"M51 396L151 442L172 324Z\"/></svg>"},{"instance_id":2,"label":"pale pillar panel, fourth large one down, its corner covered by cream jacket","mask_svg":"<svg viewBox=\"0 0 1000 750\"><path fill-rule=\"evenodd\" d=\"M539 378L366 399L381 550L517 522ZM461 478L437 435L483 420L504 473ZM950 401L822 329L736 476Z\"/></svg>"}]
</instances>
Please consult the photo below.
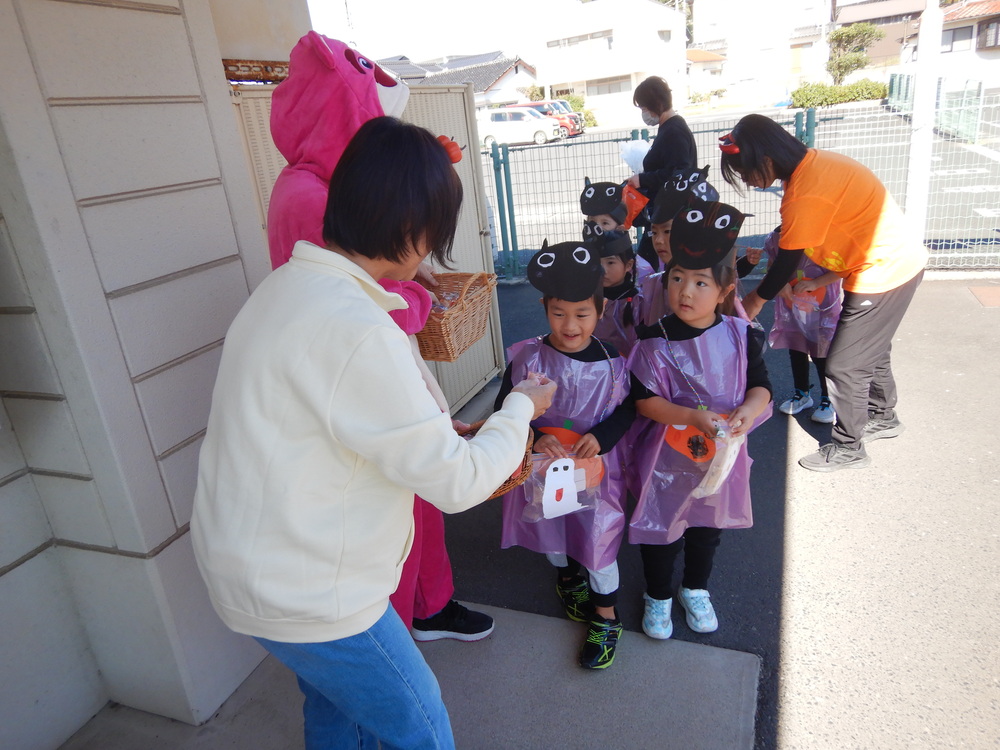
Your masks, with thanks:
<instances>
[{"instance_id":1,"label":"pale pillar panel, fourth large one down, its corner covered by cream jacket","mask_svg":"<svg viewBox=\"0 0 1000 750\"><path fill-rule=\"evenodd\" d=\"M248 296L243 267L233 262L111 300L130 372L141 375L221 340Z\"/></svg>"}]
</instances>

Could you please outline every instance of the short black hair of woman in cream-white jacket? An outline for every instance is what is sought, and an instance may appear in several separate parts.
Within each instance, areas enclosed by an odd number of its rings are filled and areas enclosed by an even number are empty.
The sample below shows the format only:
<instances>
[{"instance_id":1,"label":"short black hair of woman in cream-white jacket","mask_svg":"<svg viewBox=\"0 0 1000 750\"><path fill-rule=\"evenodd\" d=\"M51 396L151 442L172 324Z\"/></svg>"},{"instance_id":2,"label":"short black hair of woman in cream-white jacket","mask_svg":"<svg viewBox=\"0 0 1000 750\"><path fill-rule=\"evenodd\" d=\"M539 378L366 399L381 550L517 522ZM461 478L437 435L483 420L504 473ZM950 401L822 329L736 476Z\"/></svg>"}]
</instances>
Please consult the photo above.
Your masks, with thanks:
<instances>
[{"instance_id":1,"label":"short black hair of woman in cream-white jacket","mask_svg":"<svg viewBox=\"0 0 1000 750\"><path fill-rule=\"evenodd\" d=\"M399 262L426 242L448 267L462 182L441 143L395 117L354 134L330 177L323 241L345 252Z\"/></svg>"}]
</instances>

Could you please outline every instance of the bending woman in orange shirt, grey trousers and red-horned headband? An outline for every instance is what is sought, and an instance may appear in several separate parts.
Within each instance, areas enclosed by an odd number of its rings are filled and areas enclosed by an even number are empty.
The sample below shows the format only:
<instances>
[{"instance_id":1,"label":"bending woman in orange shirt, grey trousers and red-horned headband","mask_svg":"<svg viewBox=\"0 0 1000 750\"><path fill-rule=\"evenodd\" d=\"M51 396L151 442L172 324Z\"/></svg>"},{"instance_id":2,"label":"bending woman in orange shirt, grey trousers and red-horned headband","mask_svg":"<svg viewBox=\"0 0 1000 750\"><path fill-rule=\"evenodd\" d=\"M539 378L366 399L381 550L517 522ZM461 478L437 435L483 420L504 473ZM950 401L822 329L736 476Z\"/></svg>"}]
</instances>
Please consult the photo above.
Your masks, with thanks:
<instances>
[{"instance_id":1,"label":"bending woman in orange shirt, grey trousers and red-horned headband","mask_svg":"<svg viewBox=\"0 0 1000 750\"><path fill-rule=\"evenodd\" d=\"M889 352L923 277L927 249L878 177L853 159L807 148L763 115L747 115L719 140L726 182L784 184L778 256L743 298L747 315L756 317L777 296L803 253L844 279L826 369L837 423L832 442L799 465L812 471L863 468L871 463L865 443L903 431Z\"/></svg>"}]
</instances>

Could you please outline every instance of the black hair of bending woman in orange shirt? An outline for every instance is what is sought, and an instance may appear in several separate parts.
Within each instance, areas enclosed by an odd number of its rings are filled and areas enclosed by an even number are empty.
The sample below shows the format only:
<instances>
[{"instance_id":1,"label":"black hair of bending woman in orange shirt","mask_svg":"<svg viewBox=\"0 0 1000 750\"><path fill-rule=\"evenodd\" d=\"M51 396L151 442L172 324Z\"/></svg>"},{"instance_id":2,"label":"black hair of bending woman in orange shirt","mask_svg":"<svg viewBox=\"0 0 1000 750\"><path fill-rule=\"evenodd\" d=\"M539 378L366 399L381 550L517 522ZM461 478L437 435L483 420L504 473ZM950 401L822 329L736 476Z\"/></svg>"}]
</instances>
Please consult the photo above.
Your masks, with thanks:
<instances>
[{"instance_id":1,"label":"black hair of bending woman in orange shirt","mask_svg":"<svg viewBox=\"0 0 1000 750\"><path fill-rule=\"evenodd\" d=\"M742 190L742 175L764 173L764 159L771 160L774 176L791 178L792 172L805 158L808 148L770 117L747 115L736 123L732 132L738 154L722 153L722 176L730 185Z\"/></svg>"}]
</instances>

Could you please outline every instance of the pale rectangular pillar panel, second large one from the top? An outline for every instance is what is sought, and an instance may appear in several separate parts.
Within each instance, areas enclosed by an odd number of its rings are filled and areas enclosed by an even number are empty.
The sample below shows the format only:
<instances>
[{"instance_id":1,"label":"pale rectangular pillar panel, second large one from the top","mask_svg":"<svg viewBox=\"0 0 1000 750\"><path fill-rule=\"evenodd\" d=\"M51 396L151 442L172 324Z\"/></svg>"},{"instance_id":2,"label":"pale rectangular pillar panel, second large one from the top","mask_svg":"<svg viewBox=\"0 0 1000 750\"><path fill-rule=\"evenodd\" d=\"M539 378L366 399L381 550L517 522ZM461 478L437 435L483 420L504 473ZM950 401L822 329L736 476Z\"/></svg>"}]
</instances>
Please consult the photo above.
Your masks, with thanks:
<instances>
[{"instance_id":1,"label":"pale rectangular pillar panel, second large one from the top","mask_svg":"<svg viewBox=\"0 0 1000 750\"><path fill-rule=\"evenodd\" d=\"M56 107L52 122L77 200L219 178L201 104Z\"/></svg>"}]
</instances>

